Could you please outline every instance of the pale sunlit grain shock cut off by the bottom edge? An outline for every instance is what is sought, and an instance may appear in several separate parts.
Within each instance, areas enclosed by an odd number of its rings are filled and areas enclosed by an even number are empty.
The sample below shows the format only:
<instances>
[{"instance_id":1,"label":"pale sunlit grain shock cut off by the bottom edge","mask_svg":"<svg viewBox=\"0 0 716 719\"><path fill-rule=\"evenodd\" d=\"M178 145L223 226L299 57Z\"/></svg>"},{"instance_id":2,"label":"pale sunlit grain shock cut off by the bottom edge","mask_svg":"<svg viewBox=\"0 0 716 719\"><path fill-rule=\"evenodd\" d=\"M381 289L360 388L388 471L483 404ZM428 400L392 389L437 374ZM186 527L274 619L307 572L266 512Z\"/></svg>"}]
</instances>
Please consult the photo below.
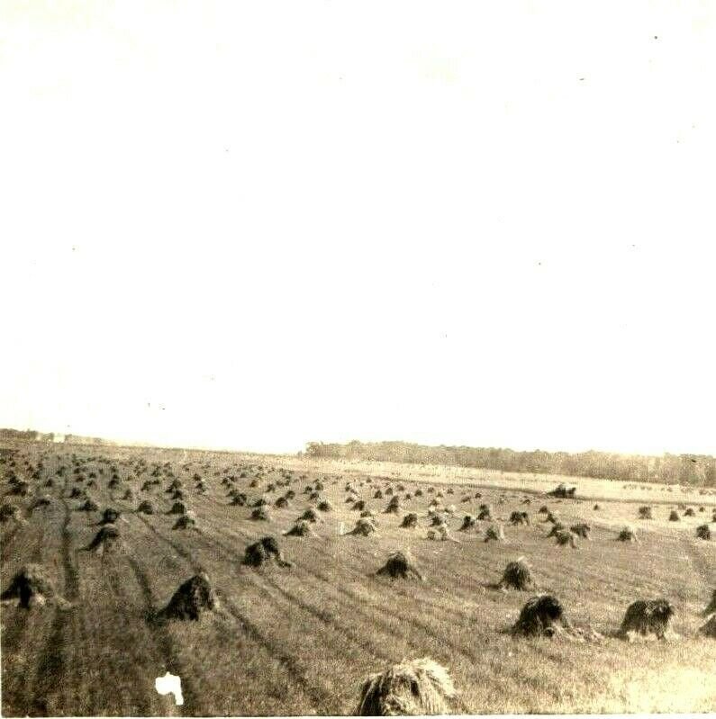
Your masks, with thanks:
<instances>
[{"instance_id":1,"label":"pale sunlit grain shock cut off by the bottom edge","mask_svg":"<svg viewBox=\"0 0 716 719\"><path fill-rule=\"evenodd\" d=\"M402 661L371 674L360 690L358 716L437 715L449 713L457 694L449 672L431 659Z\"/></svg>"}]
</instances>

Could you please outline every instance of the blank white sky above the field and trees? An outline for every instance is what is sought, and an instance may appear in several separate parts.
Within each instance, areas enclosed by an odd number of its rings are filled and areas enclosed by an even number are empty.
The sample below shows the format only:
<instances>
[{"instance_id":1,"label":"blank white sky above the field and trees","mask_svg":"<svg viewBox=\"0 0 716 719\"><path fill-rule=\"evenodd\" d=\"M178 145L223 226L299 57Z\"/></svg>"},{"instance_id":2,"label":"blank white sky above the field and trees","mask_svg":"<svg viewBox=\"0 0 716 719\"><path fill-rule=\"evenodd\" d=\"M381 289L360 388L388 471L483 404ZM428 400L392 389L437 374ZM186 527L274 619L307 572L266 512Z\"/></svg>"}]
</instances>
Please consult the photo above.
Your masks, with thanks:
<instances>
[{"instance_id":1,"label":"blank white sky above the field and trees","mask_svg":"<svg viewBox=\"0 0 716 719\"><path fill-rule=\"evenodd\" d=\"M0 3L0 427L716 454L716 4Z\"/></svg>"}]
</instances>

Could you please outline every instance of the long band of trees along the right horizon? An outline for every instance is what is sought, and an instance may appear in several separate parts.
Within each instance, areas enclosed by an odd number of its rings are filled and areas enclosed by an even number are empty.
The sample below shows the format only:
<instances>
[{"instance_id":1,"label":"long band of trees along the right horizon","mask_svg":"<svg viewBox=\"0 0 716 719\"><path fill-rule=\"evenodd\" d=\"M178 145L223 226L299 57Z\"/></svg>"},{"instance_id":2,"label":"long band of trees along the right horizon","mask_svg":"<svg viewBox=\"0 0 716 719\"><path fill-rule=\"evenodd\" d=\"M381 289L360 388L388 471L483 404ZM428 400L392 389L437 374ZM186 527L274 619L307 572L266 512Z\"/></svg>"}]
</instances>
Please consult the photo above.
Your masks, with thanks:
<instances>
[{"instance_id":1,"label":"long band of trees along the right horizon","mask_svg":"<svg viewBox=\"0 0 716 719\"><path fill-rule=\"evenodd\" d=\"M448 464L458 467L566 474L618 481L658 481L716 487L716 457L708 454L611 454L608 452L515 452L494 447L430 447L406 442L349 442L347 445L309 442L311 457L372 462Z\"/></svg>"}]
</instances>

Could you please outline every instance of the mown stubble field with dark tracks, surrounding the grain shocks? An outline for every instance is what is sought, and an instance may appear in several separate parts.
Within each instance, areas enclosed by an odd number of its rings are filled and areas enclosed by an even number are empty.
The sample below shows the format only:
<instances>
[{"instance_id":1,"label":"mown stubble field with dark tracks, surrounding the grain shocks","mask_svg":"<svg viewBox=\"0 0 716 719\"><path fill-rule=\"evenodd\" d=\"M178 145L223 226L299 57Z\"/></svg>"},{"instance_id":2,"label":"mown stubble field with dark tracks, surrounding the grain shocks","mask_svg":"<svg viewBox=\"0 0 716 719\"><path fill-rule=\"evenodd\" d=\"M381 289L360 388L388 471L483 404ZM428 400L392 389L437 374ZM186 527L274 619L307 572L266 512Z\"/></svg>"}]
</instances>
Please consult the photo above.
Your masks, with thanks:
<instances>
[{"instance_id":1,"label":"mown stubble field with dark tracks, surrounding the grain shocks","mask_svg":"<svg viewBox=\"0 0 716 719\"><path fill-rule=\"evenodd\" d=\"M609 481L183 450L8 449L27 492L5 497L13 487L2 475L3 502L18 508L5 511L0 527L2 588L38 566L67 606L23 607L22 582L9 593L2 607L3 715L340 715L356 710L368 677L425 657L449 671L457 689L446 700L451 713L716 707L716 643L699 632L716 586L716 543L696 535L703 513L692 517L684 508L680 521L669 521L675 502L688 508L690 499L710 516L711 495L698 503L686 493L672 492L663 504L649 497L653 518L639 522L638 543L625 543L615 538L639 517L645 499L638 488ZM92 473L95 486L76 481ZM114 476L119 489L109 486ZM561 483L576 486L576 499L547 495ZM291 501L276 503L289 484ZM352 503L345 502L347 484ZM269 485L276 488L268 494L271 521L256 521L253 509L267 510L255 503ZM232 496L245 496L239 507L227 499L227 486L236 490ZM388 488L399 486L400 502L390 501L400 510L385 512ZM317 487L332 511L309 499ZM69 499L75 488L82 499ZM177 490L184 499L175 514ZM492 523L483 520L483 532L459 532L464 514L440 512L459 541L427 541L429 501L439 493L454 493L473 517L485 504ZM470 501L460 503L463 495ZM45 496L49 503L36 503ZM552 525L538 521L544 513L531 524L512 522L530 497L565 527L588 526L580 536L590 541L577 552L557 547L547 537ZM579 501L586 497L591 501ZM109 517L100 511L76 511L86 500L112 508L114 521L101 525ZM352 508L358 502L379 518L377 531L349 534L360 522L371 524ZM412 515L419 528L406 531L404 518ZM194 528L174 531L185 516L195 517ZM504 542L485 542L493 526ZM300 528L291 534L293 527ZM262 544L268 535L275 539ZM79 551L92 544L92 551ZM506 589L526 590L499 590L495 582L505 574ZM190 581L197 577L210 578L211 588ZM522 608L538 593L558 598L576 630L588 625L603 639L512 637ZM662 597L675 609L669 626L680 640L621 641L627 607ZM151 621L158 616L164 621ZM167 670L182 679L184 706L154 688Z\"/></svg>"}]
</instances>

